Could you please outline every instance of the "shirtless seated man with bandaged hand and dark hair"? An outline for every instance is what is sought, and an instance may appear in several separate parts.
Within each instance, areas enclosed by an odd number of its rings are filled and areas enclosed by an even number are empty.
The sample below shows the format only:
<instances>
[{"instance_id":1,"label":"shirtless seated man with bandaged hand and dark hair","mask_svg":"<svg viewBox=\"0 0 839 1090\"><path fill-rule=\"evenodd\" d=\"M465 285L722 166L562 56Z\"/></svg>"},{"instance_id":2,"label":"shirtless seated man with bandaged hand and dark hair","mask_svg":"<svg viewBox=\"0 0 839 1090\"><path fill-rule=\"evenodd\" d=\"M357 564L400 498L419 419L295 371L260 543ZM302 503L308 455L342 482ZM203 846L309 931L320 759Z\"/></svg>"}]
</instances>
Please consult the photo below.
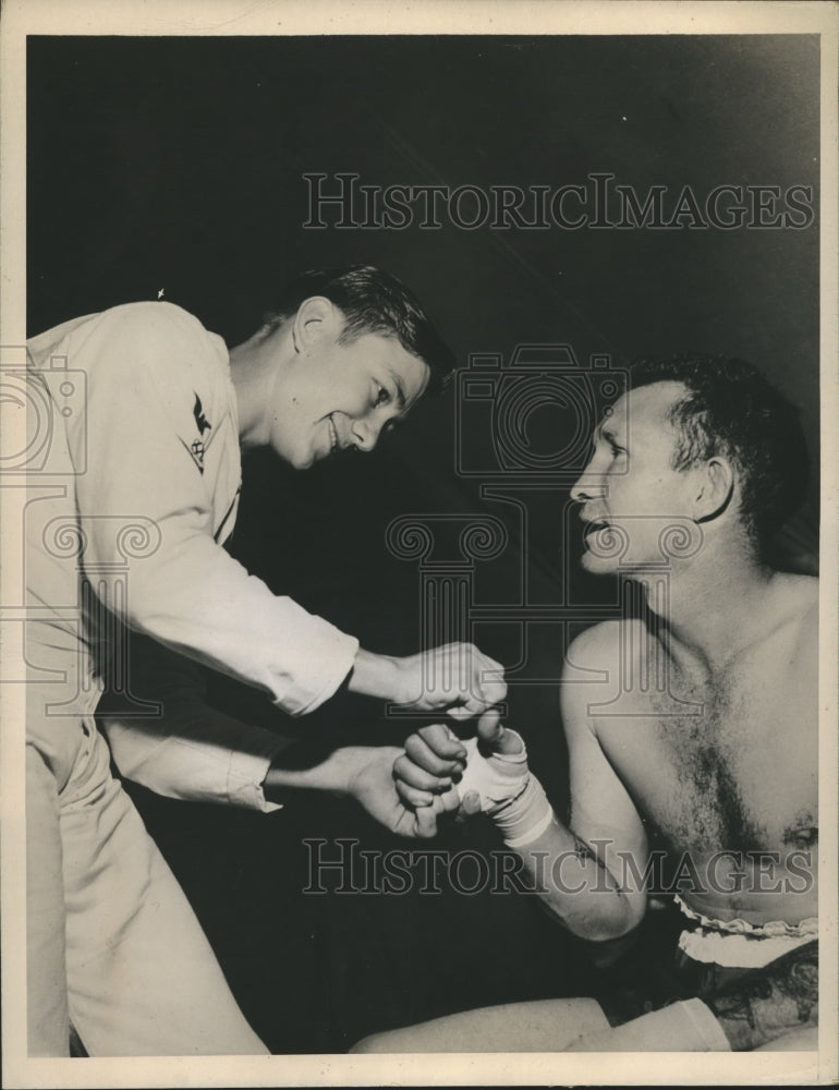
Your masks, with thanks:
<instances>
[{"instance_id":1,"label":"shirtless seated man with bandaged hand and dark hair","mask_svg":"<svg viewBox=\"0 0 839 1090\"><path fill-rule=\"evenodd\" d=\"M766 561L805 481L797 413L751 365L636 364L572 491L583 567L645 601L642 619L569 647L568 823L495 713L479 740L435 725L397 762L418 806L465 756L462 809L489 813L548 908L594 944L641 934L643 950L664 915L645 920L649 868L683 913L666 993L634 1010L610 1009L613 992L467 1012L358 1051L816 1046L817 581ZM656 973L635 964L640 992Z\"/></svg>"}]
</instances>

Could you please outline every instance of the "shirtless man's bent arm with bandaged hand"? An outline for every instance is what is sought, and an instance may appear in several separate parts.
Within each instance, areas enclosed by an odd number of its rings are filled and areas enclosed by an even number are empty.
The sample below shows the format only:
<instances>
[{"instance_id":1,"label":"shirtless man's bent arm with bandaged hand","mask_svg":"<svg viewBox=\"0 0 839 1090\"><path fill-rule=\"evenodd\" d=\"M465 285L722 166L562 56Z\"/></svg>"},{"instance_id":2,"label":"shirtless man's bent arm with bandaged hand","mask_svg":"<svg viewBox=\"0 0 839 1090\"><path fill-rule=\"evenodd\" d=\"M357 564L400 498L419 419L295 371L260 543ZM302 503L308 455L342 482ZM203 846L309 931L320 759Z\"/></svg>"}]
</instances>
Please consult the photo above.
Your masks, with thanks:
<instances>
[{"instance_id":1,"label":"shirtless man's bent arm with bandaged hand","mask_svg":"<svg viewBox=\"0 0 839 1090\"><path fill-rule=\"evenodd\" d=\"M515 731L504 729L489 713L478 724L478 747L469 756L478 766L467 771L458 788L465 813L487 810L508 847L522 859L543 900L574 934L592 941L617 938L632 931L644 916L644 889L624 888L631 857L643 872L647 858L644 826L627 789L600 748L588 704L604 699L615 683L617 639L611 626L583 633L569 650L575 668L566 667L562 719L568 739L571 788L570 823L559 821L545 792L526 767L526 751ZM613 644L613 645L612 645ZM606 670L605 682L575 683L579 667ZM459 767L458 750L448 727L435 724L405 742L394 766L397 787L409 804L422 806L417 790L446 789ZM516 768L515 765L519 765ZM516 780L518 776L518 780ZM471 785L486 794L471 790ZM507 795L507 799L504 796Z\"/></svg>"}]
</instances>

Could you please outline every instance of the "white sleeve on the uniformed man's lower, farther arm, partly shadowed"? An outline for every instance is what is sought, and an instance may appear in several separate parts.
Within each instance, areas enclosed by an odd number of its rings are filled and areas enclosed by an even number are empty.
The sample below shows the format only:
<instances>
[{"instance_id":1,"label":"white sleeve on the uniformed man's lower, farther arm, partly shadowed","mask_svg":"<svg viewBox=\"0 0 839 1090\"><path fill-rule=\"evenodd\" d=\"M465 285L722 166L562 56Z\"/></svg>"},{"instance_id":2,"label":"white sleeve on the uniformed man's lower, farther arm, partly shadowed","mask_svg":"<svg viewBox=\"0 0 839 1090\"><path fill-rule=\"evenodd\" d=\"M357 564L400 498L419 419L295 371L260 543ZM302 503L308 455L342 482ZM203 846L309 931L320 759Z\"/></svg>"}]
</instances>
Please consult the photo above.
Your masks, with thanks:
<instances>
[{"instance_id":1,"label":"white sleeve on the uniformed man's lower, farther arm, partly shadowed","mask_svg":"<svg viewBox=\"0 0 839 1090\"><path fill-rule=\"evenodd\" d=\"M130 697L106 695L97 714L121 775L172 799L280 809L263 782L293 741L210 707L196 663L136 633L130 646ZM141 717L141 701L159 711Z\"/></svg>"}]
</instances>

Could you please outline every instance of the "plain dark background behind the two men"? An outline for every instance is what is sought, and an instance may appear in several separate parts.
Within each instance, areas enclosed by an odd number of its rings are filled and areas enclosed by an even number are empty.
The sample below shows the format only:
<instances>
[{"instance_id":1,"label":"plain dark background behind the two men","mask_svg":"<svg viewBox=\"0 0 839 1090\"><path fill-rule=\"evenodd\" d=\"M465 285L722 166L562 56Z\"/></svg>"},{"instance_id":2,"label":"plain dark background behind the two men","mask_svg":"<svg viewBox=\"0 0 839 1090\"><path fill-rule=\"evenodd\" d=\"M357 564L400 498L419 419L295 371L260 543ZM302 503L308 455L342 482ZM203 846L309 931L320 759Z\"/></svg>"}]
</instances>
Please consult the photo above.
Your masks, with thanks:
<instances>
[{"instance_id":1,"label":"plain dark background behind the two men","mask_svg":"<svg viewBox=\"0 0 839 1090\"><path fill-rule=\"evenodd\" d=\"M405 280L457 351L568 343L610 354L725 352L762 364L797 401L818 455L818 233L806 230L304 230L302 174L362 183L584 183L607 170L642 195L685 184L818 183L818 43L743 37L31 38L28 323L165 298L230 344L294 272L369 261ZM333 183L328 183L333 184ZM490 513L509 546L477 565L484 604L608 607L563 536L567 488L521 514L455 473L454 390L424 403L376 455L293 474L250 456L233 552L278 592L404 654L421 641L416 564L386 547L405 512ZM532 441L563 420L547 405ZM481 444L486 421L470 417ZM817 489L780 543L812 570ZM594 613L589 619L594 619ZM577 623L586 623L585 618ZM524 631L475 632L513 663ZM556 675L563 623L527 631L511 722L558 807L564 799ZM528 679L547 679L526 685ZM339 697L304 723L219 685L242 717L330 739L409 729ZM585 952L526 897L303 896L304 836L394 846L356 808L290 800L271 818L135 791L256 1030L278 1052L341 1051L358 1037L447 1010L573 994ZM495 845L485 828L442 845ZM402 841L399 843L403 847ZM337 849L335 849L337 851ZM508 941L509 940L509 941Z\"/></svg>"}]
</instances>

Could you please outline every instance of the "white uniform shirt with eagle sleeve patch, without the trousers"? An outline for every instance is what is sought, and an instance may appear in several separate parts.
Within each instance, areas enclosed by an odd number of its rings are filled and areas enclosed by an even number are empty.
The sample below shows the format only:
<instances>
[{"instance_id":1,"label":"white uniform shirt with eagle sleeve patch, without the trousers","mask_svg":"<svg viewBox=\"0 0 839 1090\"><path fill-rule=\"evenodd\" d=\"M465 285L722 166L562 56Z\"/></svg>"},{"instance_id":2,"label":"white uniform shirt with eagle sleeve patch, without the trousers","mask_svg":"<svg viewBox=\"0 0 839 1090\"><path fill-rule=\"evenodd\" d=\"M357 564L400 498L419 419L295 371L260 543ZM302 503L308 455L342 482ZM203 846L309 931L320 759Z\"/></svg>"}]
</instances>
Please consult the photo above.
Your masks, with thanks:
<instances>
[{"instance_id":1,"label":"white uniform shirt with eagle sleeve patch, without the trousers","mask_svg":"<svg viewBox=\"0 0 839 1090\"><path fill-rule=\"evenodd\" d=\"M221 547L241 482L235 393L221 338L172 304L131 303L64 323L28 348L31 366L59 407L64 368L84 374L84 411L57 413L56 421L64 424L76 467L82 564L94 588L109 570L124 572L125 541L115 531L139 520L151 540L146 555L130 562L120 610L130 628L266 691L291 715L331 697L352 668L357 641L273 595ZM37 594L37 564L29 572ZM150 734L148 724L112 727L109 738L127 776L148 764L154 746L163 780L174 777L162 788L143 780L155 790L267 809L258 785L276 738L259 728L243 735L232 722L218 737L196 729L185 761L174 759L172 746L166 756L160 720ZM211 736L209 723L207 730ZM182 772L166 773L167 763Z\"/></svg>"}]
</instances>

